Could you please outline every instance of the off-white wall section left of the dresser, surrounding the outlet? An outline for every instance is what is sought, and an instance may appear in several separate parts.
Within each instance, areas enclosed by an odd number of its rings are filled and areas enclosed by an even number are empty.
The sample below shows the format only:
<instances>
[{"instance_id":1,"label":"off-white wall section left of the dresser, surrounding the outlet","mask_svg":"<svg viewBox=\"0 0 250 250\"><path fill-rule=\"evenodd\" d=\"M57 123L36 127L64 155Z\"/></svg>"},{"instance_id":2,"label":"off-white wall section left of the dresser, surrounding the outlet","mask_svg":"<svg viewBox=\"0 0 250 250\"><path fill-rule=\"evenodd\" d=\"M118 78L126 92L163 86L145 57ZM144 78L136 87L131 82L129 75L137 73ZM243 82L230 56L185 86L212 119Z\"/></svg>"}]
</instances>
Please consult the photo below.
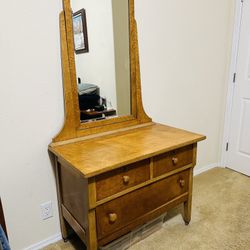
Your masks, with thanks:
<instances>
[{"instance_id":1,"label":"off-white wall section left of the dresser, surrounding the outlet","mask_svg":"<svg viewBox=\"0 0 250 250\"><path fill-rule=\"evenodd\" d=\"M0 8L0 196L20 250L59 232L47 146L63 123L61 1L8 0ZM54 217L41 220L40 204Z\"/></svg>"}]
</instances>

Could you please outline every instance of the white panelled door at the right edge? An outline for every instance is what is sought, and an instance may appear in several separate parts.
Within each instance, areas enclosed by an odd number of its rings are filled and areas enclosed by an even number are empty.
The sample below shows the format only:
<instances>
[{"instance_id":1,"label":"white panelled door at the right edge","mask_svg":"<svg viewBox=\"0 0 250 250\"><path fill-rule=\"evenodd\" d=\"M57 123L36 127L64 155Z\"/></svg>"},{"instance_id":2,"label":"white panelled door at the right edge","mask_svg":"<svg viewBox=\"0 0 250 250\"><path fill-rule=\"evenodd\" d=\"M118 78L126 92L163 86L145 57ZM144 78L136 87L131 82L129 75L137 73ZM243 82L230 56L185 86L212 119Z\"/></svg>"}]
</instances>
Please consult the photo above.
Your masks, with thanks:
<instances>
[{"instance_id":1,"label":"white panelled door at the right edge","mask_svg":"<svg viewBox=\"0 0 250 250\"><path fill-rule=\"evenodd\" d=\"M227 166L250 176L250 0L242 9Z\"/></svg>"}]
</instances>

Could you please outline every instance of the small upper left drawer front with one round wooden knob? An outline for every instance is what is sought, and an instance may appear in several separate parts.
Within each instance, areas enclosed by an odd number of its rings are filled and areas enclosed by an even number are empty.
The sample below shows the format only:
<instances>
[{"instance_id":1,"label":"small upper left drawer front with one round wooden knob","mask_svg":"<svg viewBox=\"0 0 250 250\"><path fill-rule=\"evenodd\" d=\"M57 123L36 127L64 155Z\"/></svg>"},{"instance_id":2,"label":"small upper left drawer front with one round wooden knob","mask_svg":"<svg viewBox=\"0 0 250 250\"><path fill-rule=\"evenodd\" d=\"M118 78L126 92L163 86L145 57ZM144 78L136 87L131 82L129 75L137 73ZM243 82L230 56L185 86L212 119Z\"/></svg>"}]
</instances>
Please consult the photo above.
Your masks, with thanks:
<instances>
[{"instance_id":1,"label":"small upper left drawer front with one round wooden knob","mask_svg":"<svg viewBox=\"0 0 250 250\"><path fill-rule=\"evenodd\" d=\"M97 201L150 179L150 160L143 160L96 177Z\"/></svg>"}]
</instances>

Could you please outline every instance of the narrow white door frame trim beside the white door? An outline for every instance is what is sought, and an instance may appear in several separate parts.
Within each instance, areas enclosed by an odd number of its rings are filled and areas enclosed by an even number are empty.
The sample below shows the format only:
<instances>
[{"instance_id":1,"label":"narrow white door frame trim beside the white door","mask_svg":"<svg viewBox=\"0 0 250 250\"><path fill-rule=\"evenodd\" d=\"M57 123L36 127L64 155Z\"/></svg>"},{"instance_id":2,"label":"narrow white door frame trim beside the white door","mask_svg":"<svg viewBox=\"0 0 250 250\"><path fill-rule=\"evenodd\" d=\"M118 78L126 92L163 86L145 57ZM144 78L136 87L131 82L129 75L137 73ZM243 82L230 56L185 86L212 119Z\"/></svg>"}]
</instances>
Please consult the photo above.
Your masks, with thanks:
<instances>
[{"instance_id":1,"label":"narrow white door frame trim beside the white door","mask_svg":"<svg viewBox=\"0 0 250 250\"><path fill-rule=\"evenodd\" d=\"M235 73L237 73L238 52L240 42L240 29L242 21L242 9L244 0L235 0L235 17L234 17L234 30L233 30L233 43L231 49L231 63L228 75L227 99L226 99L226 112L224 116L224 130L221 148L221 166L227 167L228 151L227 143L229 142L233 97L235 90ZM230 147L230 145L229 145Z\"/></svg>"}]
</instances>

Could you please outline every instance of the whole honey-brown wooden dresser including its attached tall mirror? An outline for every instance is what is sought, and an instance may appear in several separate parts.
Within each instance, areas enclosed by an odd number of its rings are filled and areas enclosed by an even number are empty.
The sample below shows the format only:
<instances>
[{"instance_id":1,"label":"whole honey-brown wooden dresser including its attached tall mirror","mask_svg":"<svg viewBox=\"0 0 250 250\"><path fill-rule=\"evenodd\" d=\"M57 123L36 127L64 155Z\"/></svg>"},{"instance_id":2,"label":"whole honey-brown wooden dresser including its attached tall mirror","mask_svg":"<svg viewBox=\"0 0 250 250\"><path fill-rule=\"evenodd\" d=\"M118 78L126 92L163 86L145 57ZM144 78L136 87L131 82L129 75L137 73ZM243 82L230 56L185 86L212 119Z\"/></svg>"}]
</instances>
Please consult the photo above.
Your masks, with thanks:
<instances>
[{"instance_id":1,"label":"whole honey-brown wooden dresser including its attached tall mirror","mask_svg":"<svg viewBox=\"0 0 250 250\"><path fill-rule=\"evenodd\" d=\"M96 250L181 204L188 225L197 143L205 136L155 123L144 111L134 0L112 1L112 6L100 4L99 0L91 0L89 5L79 0L62 1L65 122L52 139L49 152L63 238L67 240L75 232L88 250ZM93 15L95 19L91 19L91 10L100 16ZM114 48L103 48L112 55L102 67L115 65L116 85L106 86L105 93L116 90L116 115L100 121L89 119L81 123L77 78L88 81L88 77L96 76L97 80L92 81L100 84L107 75L114 75L107 71L101 75L100 67L91 68L90 72L81 67L81 60L90 65L101 59L96 55L96 59L88 61L90 55L75 53L77 31L72 27L79 27L79 20L72 19L72 12L86 13L80 20L85 20L85 28L86 23L91 24L88 34L92 38L98 34L97 30L91 30L92 23L102 25L104 21L100 20L107 18L102 18L103 13L109 13L108 17L113 15L113 24L105 30L112 31L106 32L106 36L114 34L111 37ZM103 37L98 37L97 43L100 39ZM95 43L91 41L89 53L94 51ZM104 91L104 85L101 90ZM107 99L112 100L112 96Z\"/></svg>"}]
</instances>

